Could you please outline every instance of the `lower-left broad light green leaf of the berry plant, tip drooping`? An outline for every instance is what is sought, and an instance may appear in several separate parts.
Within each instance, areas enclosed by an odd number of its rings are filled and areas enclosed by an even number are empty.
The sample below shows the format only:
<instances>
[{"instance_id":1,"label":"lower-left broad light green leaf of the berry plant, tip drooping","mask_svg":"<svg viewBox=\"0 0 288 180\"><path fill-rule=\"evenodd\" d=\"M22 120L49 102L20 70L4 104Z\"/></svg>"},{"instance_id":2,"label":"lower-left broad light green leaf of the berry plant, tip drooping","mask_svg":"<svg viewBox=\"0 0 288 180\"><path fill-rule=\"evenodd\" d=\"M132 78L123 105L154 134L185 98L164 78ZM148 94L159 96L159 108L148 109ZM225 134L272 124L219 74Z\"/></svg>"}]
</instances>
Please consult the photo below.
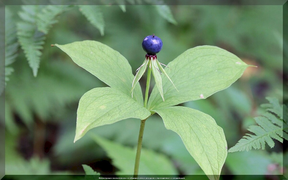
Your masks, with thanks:
<instances>
[{"instance_id":1,"label":"lower-left broad light green leaf of the berry plant, tip drooping","mask_svg":"<svg viewBox=\"0 0 288 180\"><path fill-rule=\"evenodd\" d=\"M151 113L130 96L110 87L94 88L79 101L74 142L92 128L127 119L145 119Z\"/></svg>"}]
</instances>

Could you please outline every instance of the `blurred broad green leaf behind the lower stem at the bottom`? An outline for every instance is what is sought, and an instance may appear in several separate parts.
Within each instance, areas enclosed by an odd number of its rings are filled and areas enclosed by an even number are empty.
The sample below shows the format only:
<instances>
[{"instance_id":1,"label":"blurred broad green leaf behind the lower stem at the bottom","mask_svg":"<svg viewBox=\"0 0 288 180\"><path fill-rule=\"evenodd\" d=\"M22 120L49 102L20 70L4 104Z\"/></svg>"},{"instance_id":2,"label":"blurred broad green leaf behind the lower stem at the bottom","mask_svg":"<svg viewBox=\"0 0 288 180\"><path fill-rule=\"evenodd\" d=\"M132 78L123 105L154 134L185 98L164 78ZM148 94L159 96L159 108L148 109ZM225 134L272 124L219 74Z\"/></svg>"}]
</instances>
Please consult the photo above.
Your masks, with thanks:
<instances>
[{"instance_id":1,"label":"blurred broad green leaf behind the lower stem at the bottom","mask_svg":"<svg viewBox=\"0 0 288 180\"><path fill-rule=\"evenodd\" d=\"M139 123L140 124L140 123ZM119 168L118 175L130 175L134 172L136 147L126 147L98 136L94 140L107 152L114 166ZM176 175L177 170L168 157L154 151L141 150L139 175Z\"/></svg>"}]
</instances>

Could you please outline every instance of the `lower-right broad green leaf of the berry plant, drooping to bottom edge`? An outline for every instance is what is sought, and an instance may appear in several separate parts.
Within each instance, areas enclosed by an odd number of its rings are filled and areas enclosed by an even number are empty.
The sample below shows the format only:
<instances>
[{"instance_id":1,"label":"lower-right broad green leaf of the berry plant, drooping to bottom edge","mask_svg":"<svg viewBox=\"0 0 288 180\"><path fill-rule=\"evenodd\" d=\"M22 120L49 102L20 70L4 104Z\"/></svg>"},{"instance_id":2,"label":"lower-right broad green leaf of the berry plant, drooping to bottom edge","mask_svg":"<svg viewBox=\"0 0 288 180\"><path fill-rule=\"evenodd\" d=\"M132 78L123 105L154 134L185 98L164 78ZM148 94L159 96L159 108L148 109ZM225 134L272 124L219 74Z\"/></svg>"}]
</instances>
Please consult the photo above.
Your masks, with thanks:
<instances>
[{"instance_id":1,"label":"lower-right broad green leaf of the berry plant, drooping to bottom edge","mask_svg":"<svg viewBox=\"0 0 288 180\"><path fill-rule=\"evenodd\" d=\"M209 179L219 179L227 156L223 129L208 114L189 107L174 106L153 110L167 129L181 137L186 149Z\"/></svg>"}]
</instances>

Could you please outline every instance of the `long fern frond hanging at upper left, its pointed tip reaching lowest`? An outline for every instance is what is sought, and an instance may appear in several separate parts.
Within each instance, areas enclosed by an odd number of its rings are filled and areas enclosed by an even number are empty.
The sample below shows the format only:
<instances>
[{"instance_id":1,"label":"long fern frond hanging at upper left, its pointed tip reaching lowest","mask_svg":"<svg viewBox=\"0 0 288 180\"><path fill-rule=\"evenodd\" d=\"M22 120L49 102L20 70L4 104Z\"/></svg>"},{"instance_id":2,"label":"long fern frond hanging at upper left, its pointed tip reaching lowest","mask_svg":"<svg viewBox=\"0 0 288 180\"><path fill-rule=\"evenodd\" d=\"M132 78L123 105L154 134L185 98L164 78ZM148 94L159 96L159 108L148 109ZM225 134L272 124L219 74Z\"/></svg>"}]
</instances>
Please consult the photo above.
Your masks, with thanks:
<instances>
[{"instance_id":1,"label":"long fern frond hanging at upper left, its pointed tip reaching lowest","mask_svg":"<svg viewBox=\"0 0 288 180\"><path fill-rule=\"evenodd\" d=\"M42 8L39 5L22 5L21 8L19 16L22 21L17 23L18 40L36 77L45 40L44 33L38 31L36 25L37 14Z\"/></svg>"}]
</instances>

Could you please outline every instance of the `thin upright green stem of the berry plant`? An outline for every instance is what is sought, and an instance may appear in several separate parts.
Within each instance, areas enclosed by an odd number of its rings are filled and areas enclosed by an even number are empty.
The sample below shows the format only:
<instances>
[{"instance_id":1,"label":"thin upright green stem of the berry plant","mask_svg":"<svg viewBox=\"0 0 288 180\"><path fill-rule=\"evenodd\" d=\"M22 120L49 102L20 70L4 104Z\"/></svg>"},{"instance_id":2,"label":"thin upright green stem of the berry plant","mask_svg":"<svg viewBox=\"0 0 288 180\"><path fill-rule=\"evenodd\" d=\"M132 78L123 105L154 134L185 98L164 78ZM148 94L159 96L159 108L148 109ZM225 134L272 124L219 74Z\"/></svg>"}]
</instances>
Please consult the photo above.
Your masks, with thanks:
<instances>
[{"instance_id":1,"label":"thin upright green stem of the berry plant","mask_svg":"<svg viewBox=\"0 0 288 180\"><path fill-rule=\"evenodd\" d=\"M149 62L150 63L150 62ZM145 100L144 100L144 107L147 107L147 101L148 101L148 92L150 87L150 79L151 79L151 69L148 65L148 72L147 72L147 83L146 83L146 91L145 91ZM150 116L149 116L150 117ZM148 118L149 118L148 117ZM141 120L140 124L140 130L139 130L139 137L138 137L138 144L137 144L137 151L136 151L136 158L135 158L135 166L134 166L134 178L138 177L139 172L139 163L140 163L140 155L141 155L141 148L142 148L142 139L143 139L143 133L144 133L144 127L145 127L145 120Z\"/></svg>"}]
</instances>

